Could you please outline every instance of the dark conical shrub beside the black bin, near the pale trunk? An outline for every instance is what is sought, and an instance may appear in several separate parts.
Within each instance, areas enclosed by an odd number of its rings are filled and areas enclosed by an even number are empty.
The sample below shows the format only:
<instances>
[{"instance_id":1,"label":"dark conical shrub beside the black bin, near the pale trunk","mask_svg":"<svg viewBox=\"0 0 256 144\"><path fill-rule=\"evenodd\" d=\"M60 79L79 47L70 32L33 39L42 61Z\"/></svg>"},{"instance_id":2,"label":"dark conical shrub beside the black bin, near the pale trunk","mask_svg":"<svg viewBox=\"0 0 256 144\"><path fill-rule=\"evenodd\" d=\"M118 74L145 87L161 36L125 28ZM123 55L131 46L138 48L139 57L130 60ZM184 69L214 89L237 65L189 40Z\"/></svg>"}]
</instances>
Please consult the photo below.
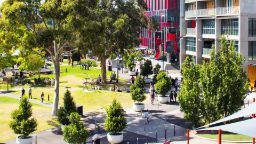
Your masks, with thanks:
<instances>
[{"instance_id":1,"label":"dark conical shrub beside the black bin, near the pale trunk","mask_svg":"<svg viewBox=\"0 0 256 144\"><path fill-rule=\"evenodd\" d=\"M57 116L58 121L63 125L68 125L70 123L68 117L72 112L76 112L76 104L71 96L69 90L66 91L64 94L64 106L60 107L58 110Z\"/></svg>"}]
</instances>

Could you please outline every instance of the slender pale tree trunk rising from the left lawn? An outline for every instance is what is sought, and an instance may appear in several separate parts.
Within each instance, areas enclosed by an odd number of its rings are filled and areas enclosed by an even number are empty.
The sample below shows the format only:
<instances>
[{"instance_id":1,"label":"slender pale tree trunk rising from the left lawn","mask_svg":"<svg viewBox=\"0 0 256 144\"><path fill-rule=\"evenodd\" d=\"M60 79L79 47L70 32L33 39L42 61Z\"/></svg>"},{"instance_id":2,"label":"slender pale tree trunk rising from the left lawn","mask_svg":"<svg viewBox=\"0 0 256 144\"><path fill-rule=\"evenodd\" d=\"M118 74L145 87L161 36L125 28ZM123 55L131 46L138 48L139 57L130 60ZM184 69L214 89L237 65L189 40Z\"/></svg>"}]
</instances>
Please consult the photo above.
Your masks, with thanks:
<instances>
[{"instance_id":1,"label":"slender pale tree trunk rising from the left lawn","mask_svg":"<svg viewBox=\"0 0 256 144\"><path fill-rule=\"evenodd\" d=\"M59 107L59 87L60 87L60 55L58 52L58 45L54 41L54 70L55 70L55 86L54 86L54 101L52 107L52 115L56 116Z\"/></svg>"}]
</instances>

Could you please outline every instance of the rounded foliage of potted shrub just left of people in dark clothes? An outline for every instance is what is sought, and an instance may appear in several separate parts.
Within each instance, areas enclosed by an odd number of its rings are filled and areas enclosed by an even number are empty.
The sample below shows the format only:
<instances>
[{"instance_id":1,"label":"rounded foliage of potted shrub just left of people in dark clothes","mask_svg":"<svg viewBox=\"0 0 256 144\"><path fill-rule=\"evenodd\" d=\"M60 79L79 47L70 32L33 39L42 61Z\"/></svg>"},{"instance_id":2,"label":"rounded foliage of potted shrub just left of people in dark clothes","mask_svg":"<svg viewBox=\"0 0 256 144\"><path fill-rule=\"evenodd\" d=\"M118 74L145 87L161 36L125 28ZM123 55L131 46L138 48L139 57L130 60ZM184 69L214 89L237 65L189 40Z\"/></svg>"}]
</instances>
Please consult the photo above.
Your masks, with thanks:
<instances>
[{"instance_id":1,"label":"rounded foliage of potted shrub just left of people in dark clothes","mask_svg":"<svg viewBox=\"0 0 256 144\"><path fill-rule=\"evenodd\" d=\"M157 79L157 82L155 84L156 92L158 94L161 94L162 96L165 96L171 88L170 78L166 75L165 72L160 72L157 75L156 79Z\"/></svg>"}]
</instances>

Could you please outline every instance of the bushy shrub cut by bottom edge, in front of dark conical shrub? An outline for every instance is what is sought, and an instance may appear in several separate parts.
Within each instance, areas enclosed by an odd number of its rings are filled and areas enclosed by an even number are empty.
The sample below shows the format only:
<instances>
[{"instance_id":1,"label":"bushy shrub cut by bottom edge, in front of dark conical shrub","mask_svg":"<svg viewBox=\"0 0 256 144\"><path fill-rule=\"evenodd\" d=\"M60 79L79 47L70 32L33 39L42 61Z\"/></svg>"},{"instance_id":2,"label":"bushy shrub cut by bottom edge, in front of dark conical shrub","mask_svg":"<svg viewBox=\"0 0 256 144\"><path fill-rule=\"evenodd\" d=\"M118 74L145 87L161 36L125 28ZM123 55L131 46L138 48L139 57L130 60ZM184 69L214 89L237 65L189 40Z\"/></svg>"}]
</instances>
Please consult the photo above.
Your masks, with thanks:
<instances>
[{"instance_id":1,"label":"bushy shrub cut by bottom edge, in front of dark conical shrub","mask_svg":"<svg viewBox=\"0 0 256 144\"><path fill-rule=\"evenodd\" d=\"M73 112L69 116L70 124L64 127L64 140L70 144L81 144L86 142L89 135L88 131L80 122L80 115Z\"/></svg>"}]
</instances>

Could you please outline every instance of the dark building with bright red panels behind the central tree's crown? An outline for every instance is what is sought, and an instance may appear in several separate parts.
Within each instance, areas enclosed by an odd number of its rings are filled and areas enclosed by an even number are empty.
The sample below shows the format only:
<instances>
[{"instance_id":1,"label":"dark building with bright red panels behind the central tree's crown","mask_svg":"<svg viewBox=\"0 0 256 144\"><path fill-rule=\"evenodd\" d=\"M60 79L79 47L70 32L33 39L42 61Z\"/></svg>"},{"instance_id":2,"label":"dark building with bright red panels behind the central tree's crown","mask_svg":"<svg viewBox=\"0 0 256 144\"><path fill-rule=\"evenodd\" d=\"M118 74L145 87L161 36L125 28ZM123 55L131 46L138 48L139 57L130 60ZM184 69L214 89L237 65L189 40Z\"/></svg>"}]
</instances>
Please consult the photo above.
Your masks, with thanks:
<instances>
[{"instance_id":1,"label":"dark building with bright red panels behind the central tree's crown","mask_svg":"<svg viewBox=\"0 0 256 144\"><path fill-rule=\"evenodd\" d=\"M141 47L152 51L156 59L162 59L164 53L168 62L178 62L180 0L144 1L147 4L147 11L144 12L146 17L154 19L159 25L154 30L141 29ZM161 39L160 45L156 42L158 37Z\"/></svg>"}]
</instances>

